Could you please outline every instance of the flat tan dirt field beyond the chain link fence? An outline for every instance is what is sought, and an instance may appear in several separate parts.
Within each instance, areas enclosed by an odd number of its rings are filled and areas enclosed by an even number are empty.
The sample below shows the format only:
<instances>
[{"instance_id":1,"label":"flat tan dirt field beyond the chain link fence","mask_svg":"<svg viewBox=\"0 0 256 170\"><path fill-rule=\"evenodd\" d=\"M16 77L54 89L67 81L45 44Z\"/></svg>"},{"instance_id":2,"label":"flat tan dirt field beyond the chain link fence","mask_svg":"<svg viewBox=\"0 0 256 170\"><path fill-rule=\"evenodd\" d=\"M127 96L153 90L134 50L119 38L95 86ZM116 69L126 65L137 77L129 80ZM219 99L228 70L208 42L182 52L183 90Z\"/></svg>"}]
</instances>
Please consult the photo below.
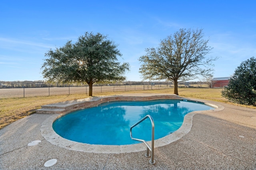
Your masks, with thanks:
<instances>
[{"instance_id":1,"label":"flat tan dirt field beyond the chain link fence","mask_svg":"<svg viewBox=\"0 0 256 170\"><path fill-rule=\"evenodd\" d=\"M93 86L92 94L104 92L125 92L132 90L157 90L170 88L166 85L116 85L116 86ZM78 87L44 87L44 88L0 88L0 99L26 98L35 96L55 96L68 94L88 94L88 86Z\"/></svg>"}]
</instances>

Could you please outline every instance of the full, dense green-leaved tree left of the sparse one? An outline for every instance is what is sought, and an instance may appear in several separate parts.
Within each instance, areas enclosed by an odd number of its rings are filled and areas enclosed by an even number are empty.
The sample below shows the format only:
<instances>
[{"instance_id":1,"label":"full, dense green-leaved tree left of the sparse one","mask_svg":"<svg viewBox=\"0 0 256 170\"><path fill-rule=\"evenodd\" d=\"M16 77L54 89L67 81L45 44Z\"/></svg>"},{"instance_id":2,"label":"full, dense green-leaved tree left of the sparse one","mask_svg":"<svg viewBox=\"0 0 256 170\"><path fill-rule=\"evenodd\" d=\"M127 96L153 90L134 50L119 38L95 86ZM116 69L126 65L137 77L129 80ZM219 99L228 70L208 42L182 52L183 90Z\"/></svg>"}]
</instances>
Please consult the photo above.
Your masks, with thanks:
<instances>
[{"instance_id":1,"label":"full, dense green-leaved tree left of the sparse one","mask_svg":"<svg viewBox=\"0 0 256 170\"><path fill-rule=\"evenodd\" d=\"M118 62L121 57L117 45L100 33L86 32L72 44L68 41L63 47L50 49L42 64L42 74L50 82L80 82L92 85L95 82L123 81L128 63Z\"/></svg>"}]
</instances>

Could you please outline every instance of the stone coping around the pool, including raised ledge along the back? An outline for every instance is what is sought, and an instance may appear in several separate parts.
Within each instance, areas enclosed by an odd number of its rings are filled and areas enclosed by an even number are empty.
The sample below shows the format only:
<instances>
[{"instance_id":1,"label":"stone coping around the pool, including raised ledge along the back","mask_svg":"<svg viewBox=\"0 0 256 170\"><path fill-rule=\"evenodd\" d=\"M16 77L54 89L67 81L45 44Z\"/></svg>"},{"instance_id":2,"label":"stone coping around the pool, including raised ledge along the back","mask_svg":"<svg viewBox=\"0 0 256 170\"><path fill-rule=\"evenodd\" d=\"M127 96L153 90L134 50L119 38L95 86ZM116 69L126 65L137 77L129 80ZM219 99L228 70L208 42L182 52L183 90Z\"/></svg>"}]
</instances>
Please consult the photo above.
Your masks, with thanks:
<instances>
[{"instance_id":1,"label":"stone coping around the pool, including raised ledge along the back","mask_svg":"<svg viewBox=\"0 0 256 170\"><path fill-rule=\"evenodd\" d=\"M50 104L38 109L38 113L53 113L52 116L48 117L41 125L41 134L48 142L69 150L76 150L82 152L94 152L94 153L128 153L128 152L138 152L146 149L146 146L143 143L132 144L132 145L91 145L86 143L79 143L70 141L68 139L62 138L58 135L52 128L52 123L59 117L70 113L75 110L84 109L88 107L95 107L99 104L110 102L110 101L147 101L147 100L160 100L160 99L170 99L170 100L187 100L192 102L200 102L197 100L191 100L187 98L181 98L176 95L150 95L150 96L103 96L103 97L92 97L82 100L73 100L68 102L59 102L56 104ZM204 111L193 111L185 115L182 126L175 131L174 133L157 139L154 141L154 147L162 147L168 145L178 139L182 138L188 134L192 128L193 116L197 113L202 112L212 112L220 111L224 109L221 105L204 103L208 106L212 106L215 109L213 110L204 110ZM52 108L50 108L52 107ZM43 109L46 109L45 111ZM56 109L56 110L54 110ZM61 110L61 111L60 111ZM150 142L148 142L149 145Z\"/></svg>"}]
</instances>

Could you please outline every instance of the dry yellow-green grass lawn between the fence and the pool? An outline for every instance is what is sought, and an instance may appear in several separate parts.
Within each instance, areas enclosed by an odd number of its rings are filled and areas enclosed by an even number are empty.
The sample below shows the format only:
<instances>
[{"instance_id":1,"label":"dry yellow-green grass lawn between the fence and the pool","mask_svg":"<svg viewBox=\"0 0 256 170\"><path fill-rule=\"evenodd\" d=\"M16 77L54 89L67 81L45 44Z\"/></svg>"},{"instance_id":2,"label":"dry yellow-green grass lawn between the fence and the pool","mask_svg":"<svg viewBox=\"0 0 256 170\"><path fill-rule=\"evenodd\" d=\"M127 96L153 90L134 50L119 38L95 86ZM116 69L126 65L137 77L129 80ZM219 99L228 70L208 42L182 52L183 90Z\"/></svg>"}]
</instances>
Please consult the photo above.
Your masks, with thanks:
<instances>
[{"instance_id":1,"label":"dry yellow-green grass lawn between the fence and the pool","mask_svg":"<svg viewBox=\"0 0 256 170\"><path fill-rule=\"evenodd\" d=\"M221 96L221 88L179 88L179 96L190 98L201 98L206 100L214 100L218 102L229 103ZM95 93L94 96L107 96L118 94L132 94L132 93L162 93L173 94L173 88L161 90L138 90L126 92L109 92L109 93ZM57 102L64 102L68 100L76 100L88 98L86 94L72 94L59 96L40 96L28 98L9 98L0 99L0 129L6 125L35 113L42 105L52 104ZM256 107L254 107L256 108Z\"/></svg>"}]
</instances>

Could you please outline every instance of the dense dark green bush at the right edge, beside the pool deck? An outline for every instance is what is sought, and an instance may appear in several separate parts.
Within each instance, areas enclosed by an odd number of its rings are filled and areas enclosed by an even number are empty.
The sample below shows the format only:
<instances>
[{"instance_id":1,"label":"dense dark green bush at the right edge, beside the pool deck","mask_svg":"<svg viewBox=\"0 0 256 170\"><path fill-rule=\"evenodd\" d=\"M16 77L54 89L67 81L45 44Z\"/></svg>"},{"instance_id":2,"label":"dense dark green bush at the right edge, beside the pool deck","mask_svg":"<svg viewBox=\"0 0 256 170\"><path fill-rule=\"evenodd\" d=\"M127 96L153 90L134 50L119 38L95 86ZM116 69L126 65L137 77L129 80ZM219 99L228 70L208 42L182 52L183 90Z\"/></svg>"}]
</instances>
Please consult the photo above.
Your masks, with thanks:
<instances>
[{"instance_id":1,"label":"dense dark green bush at the right edge, beside the pool deck","mask_svg":"<svg viewBox=\"0 0 256 170\"><path fill-rule=\"evenodd\" d=\"M256 106L256 58L244 61L221 92L230 102Z\"/></svg>"}]
</instances>

